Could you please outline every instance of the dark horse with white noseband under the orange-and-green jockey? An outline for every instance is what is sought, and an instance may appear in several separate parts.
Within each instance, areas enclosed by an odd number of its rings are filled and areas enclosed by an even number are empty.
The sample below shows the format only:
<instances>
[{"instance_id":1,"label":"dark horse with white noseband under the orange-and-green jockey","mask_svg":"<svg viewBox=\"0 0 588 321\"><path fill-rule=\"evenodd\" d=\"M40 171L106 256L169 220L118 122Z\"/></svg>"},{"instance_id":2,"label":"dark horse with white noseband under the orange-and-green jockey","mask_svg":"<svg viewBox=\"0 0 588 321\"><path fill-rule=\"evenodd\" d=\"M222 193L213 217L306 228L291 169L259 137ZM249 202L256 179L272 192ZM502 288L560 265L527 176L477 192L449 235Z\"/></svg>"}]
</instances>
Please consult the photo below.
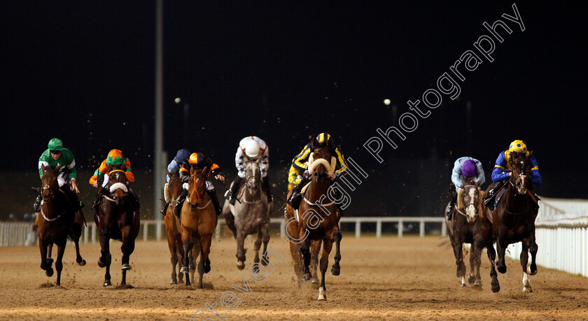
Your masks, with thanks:
<instances>
[{"instance_id":1,"label":"dark horse with white noseband under the orange-and-green jockey","mask_svg":"<svg viewBox=\"0 0 588 321\"><path fill-rule=\"evenodd\" d=\"M106 267L104 274L104 287L112 285L110 265L110 240L123 242L120 250L123 251L122 270L123 280L120 285L127 284L127 271L131 269L130 255L134 251L135 238L139 234L139 207L137 211L132 205L132 197L135 197L127 187L127 176L120 166L109 165L109 193L103 194L99 203L99 215L94 216L94 222L99 230L101 256L98 266Z\"/></svg>"}]
</instances>

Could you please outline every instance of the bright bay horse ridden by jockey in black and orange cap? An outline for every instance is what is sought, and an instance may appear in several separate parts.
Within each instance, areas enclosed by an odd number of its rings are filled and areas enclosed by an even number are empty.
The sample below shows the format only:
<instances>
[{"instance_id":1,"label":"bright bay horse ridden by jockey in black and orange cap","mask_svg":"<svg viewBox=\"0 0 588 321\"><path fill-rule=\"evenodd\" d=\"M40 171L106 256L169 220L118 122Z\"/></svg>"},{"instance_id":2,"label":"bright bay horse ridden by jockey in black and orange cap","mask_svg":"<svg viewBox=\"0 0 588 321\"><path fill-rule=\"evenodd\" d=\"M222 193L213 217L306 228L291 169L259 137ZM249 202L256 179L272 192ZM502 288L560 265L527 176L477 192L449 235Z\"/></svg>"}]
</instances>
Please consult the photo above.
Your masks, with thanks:
<instances>
[{"instance_id":1,"label":"bright bay horse ridden by jockey in black and orange cap","mask_svg":"<svg viewBox=\"0 0 588 321\"><path fill-rule=\"evenodd\" d=\"M200 262L198 262L199 289L202 289L204 273L210 272L210 246L217 223L216 211L207 193L207 171L207 166L204 166L202 170L190 166L188 197L183 202L181 211L184 253L190 253L193 250L194 260L200 255ZM189 255L184 255L180 273L186 273L186 286L191 286L188 275L190 271L188 257Z\"/></svg>"}]
</instances>

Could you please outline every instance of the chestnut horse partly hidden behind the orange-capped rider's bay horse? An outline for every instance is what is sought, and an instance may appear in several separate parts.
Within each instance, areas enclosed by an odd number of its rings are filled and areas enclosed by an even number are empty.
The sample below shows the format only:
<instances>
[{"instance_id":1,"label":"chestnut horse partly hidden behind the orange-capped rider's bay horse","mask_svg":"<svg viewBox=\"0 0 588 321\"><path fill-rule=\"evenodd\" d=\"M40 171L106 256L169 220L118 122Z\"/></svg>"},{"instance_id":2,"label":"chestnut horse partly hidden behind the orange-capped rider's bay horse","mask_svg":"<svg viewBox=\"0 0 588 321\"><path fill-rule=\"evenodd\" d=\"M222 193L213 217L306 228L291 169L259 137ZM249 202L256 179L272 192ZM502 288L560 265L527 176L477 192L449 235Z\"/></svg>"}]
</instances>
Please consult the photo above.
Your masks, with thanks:
<instances>
[{"instance_id":1,"label":"chestnut horse partly hidden behind the orange-capped rider's bay horse","mask_svg":"<svg viewBox=\"0 0 588 321\"><path fill-rule=\"evenodd\" d=\"M165 201L169 203L169 206L165 212L164 222L165 232L167 234L167 246L169 247L169 254L172 255L172 280L169 281L169 284L178 284L178 279L176 278L176 265L178 264L178 259L181 264L184 251L181 234L182 224L179 217L174 215L174 206L182 193L182 182L179 178L179 173L172 174L168 171L167 176L169 176L169 183L167 184L167 190L164 197ZM189 255L190 271L194 273L196 268L192 260L192 253L190 252ZM194 276L194 274L192 275ZM179 273L179 278L179 282L183 283L183 273Z\"/></svg>"}]
</instances>

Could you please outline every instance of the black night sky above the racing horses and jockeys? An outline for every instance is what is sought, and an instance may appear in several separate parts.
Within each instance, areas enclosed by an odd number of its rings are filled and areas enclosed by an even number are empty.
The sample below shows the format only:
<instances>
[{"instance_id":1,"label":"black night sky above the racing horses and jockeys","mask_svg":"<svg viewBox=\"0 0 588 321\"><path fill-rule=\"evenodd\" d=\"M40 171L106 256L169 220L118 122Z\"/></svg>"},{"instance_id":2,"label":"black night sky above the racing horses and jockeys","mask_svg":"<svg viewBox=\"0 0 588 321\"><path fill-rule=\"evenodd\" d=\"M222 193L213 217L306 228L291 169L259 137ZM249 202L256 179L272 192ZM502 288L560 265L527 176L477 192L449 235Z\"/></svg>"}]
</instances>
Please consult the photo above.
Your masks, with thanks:
<instances>
[{"instance_id":1,"label":"black night sky above the racing horses and jockeys","mask_svg":"<svg viewBox=\"0 0 588 321\"><path fill-rule=\"evenodd\" d=\"M232 178L243 136L265 139L270 166L286 169L309 135L329 131L347 157L393 187L402 184L385 176L402 170L394 159L469 155L490 170L523 139L545 185L568 188L553 196L582 197L584 10L517 1L521 31L501 17L514 15L512 3L166 2L164 148L170 158L184 144L211 155ZM489 35L482 23L498 19L513 32L499 29L494 61L463 71L458 99L442 95L398 149L384 146L379 164L363 143L398 126L392 106L409 112L407 101L435 88ZM1 1L0 26L1 170L36 171L54 136L82 168L111 148L153 167L155 1ZM190 105L187 137L176 97Z\"/></svg>"}]
</instances>

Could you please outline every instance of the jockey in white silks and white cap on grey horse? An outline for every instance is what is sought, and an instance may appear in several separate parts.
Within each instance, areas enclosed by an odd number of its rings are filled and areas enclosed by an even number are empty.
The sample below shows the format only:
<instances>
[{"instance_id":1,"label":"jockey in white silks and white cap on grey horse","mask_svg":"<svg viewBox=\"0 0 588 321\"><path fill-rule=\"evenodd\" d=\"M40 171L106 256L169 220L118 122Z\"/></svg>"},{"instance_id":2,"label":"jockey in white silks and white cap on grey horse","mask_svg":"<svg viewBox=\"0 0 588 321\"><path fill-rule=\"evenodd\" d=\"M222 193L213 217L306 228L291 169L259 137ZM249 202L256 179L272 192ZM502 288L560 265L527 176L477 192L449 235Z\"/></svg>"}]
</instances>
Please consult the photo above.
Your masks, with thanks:
<instances>
[{"instance_id":1,"label":"jockey in white silks and white cap on grey horse","mask_svg":"<svg viewBox=\"0 0 588 321\"><path fill-rule=\"evenodd\" d=\"M237 166L237 177L230 187L229 203L235 205L237 193L241 182L245 178L247 162L258 162L261 172L261 188L267 194L267 203L272 202L272 189L269 186L267 169L269 169L269 149L267 144L258 136L247 136L239 142L237 154L235 155L235 166Z\"/></svg>"}]
</instances>

